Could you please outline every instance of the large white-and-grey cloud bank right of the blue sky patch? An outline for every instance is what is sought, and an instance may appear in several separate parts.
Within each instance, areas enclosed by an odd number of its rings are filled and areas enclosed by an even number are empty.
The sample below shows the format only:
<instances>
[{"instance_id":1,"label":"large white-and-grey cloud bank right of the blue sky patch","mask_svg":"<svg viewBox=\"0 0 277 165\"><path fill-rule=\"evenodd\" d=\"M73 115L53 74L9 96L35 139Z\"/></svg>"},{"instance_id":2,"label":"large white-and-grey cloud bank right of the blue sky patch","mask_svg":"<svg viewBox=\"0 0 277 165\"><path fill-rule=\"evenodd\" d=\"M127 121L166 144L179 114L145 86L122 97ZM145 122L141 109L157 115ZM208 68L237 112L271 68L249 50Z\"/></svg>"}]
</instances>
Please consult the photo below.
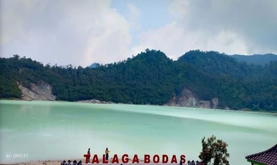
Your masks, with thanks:
<instances>
[{"instance_id":1,"label":"large white-and-grey cloud bank right of the blue sky patch","mask_svg":"<svg viewBox=\"0 0 277 165\"><path fill-rule=\"evenodd\" d=\"M277 53L277 1L174 0L168 9L172 23L140 33L133 54L145 48L173 59L191 49Z\"/></svg>"}]
</instances>

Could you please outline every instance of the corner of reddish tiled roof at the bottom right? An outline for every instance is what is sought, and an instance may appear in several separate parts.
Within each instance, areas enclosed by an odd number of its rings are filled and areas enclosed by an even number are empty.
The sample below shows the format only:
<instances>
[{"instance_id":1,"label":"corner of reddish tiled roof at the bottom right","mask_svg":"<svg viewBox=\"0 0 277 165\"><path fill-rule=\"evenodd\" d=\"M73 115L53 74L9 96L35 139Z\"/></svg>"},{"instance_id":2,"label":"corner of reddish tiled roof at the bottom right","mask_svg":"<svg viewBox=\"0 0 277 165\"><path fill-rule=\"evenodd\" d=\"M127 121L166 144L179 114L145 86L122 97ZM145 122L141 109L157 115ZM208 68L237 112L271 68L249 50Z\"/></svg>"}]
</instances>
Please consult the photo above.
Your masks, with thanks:
<instances>
[{"instance_id":1,"label":"corner of reddish tiled roof at the bottom right","mask_svg":"<svg viewBox=\"0 0 277 165\"><path fill-rule=\"evenodd\" d=\"M248 155L245 158L265 165L277 165L277 144L266 151Z\"/></svg>"}]
</instances>

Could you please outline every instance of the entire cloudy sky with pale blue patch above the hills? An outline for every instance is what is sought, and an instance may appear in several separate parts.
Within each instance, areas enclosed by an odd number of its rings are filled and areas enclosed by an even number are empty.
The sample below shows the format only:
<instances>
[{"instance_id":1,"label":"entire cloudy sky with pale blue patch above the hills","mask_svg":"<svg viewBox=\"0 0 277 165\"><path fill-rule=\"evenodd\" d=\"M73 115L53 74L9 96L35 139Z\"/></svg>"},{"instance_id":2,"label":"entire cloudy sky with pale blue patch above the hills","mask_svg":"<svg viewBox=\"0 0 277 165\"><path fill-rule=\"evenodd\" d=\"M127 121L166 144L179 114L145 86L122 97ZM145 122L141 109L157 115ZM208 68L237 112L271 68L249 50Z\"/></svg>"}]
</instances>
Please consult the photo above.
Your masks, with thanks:
<instances>
[{"instance_id":1,"label":"entire cloudy sky with pale blue patch above the hills","mask_svg":"<svg viewBox=\"0 0 277 165\"><path fill-rule=\"evenodd\" d=\"M86 67L146 48L277 53L277 0L0 0L0 56Z\"/></svg>"}]
</instances>

